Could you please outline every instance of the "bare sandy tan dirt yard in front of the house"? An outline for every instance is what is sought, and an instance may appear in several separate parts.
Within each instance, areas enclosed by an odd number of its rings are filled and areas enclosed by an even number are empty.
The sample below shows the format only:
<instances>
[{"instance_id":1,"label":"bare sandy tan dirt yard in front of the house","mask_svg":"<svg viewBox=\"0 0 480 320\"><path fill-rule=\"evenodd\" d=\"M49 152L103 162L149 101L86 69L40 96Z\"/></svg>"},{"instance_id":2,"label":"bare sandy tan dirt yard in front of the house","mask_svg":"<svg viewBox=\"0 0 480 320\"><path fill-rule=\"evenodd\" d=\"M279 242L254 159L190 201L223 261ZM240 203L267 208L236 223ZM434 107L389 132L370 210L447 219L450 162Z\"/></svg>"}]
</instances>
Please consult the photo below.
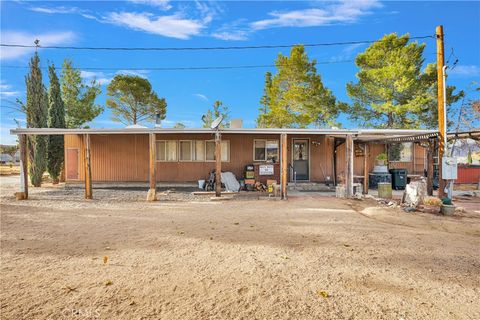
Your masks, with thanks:
<instances>
[{"instance_id":1,"label":"bare sandy tan dirt yard in front of the house","mask_svg":"<svg viewBox=\"0 0 480 320\"><path fill-rule=\"evenodd\" d=\"M15 188L2 178L2 319L480 319L476 210Z\"/></svg>"}]
</instances>

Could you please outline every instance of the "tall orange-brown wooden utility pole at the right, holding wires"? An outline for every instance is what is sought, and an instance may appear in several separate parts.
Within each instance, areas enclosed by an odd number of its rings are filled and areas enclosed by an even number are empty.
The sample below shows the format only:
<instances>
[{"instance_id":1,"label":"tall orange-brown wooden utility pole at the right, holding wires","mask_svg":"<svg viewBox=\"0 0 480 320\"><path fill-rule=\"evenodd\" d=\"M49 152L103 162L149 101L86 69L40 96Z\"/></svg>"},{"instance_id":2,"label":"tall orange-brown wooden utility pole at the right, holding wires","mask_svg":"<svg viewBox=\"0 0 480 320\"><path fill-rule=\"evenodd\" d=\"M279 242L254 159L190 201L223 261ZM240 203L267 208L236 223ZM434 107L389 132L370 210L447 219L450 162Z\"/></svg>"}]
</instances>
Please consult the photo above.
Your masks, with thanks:
<instances>
[{"instance_id":1,"label":"tall orange-brown wooden utility pole at the right, holding wires","mask_svg":"<svg viewBox=\"0 0 480 320\"><path fill-rule=\"evenodd\" d=\"M446 137L446 123L445 123L445 106L443 104L445 99L443 66L445 64L445 53L443 45L443 26L437 26L437 105L438 105L438 197L443 198L445 195L445 181L442 177L442 159L445 154L445 137Z\"/></svg>"}]
</instances>

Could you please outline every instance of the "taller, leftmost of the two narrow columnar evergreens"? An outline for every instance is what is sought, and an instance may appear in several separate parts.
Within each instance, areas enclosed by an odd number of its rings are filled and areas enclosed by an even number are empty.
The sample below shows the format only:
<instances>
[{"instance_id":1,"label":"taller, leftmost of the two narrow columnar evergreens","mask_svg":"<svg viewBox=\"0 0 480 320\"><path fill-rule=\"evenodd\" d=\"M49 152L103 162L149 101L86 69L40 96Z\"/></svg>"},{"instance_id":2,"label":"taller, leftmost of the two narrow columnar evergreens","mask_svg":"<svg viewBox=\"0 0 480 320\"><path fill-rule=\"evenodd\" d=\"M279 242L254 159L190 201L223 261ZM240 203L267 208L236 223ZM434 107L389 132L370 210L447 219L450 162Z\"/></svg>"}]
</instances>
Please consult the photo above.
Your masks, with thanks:
<instances>
[{"instance_id":1,"label":"taller, leftmost of the two narrow columnar evergreens","mask_svg":"<svg viewBox=\"0 0 480 320\"><path fill-rule=\"evenodd\" d=\"M38 53L30 61L30 73L25 77L27 87L27 127L46 128L48 98L42 83ZM30 182L34 187L42 184L42 176L46 169L47 137L30 136L28 141L30 160Z\"/></svg>"}]
</instances>

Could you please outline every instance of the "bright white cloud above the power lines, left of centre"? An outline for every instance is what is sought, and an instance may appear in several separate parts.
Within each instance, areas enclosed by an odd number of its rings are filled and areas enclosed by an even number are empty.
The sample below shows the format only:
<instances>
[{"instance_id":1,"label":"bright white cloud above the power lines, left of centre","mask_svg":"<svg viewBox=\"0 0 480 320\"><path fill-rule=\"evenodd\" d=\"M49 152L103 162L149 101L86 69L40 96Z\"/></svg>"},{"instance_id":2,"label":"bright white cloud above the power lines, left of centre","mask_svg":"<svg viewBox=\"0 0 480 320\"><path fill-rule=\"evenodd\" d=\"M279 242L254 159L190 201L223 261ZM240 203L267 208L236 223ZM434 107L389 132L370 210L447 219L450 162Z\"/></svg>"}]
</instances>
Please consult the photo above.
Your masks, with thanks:
<instances>
[{"instance_id":1,"label":"bright white cloud above the power lines, left of centre","mask_svg":"<svg viewBox=\"0 0 480 320\"><path fill-rule=\"evenodd\" d=\"M112 12L105 18L105 21L130 29L177 39L188 39L191 36L198 35L206 26L204 21L186 19L178 13L168 16L154 16L146 12Z\"/></svg>"}]
</instances>

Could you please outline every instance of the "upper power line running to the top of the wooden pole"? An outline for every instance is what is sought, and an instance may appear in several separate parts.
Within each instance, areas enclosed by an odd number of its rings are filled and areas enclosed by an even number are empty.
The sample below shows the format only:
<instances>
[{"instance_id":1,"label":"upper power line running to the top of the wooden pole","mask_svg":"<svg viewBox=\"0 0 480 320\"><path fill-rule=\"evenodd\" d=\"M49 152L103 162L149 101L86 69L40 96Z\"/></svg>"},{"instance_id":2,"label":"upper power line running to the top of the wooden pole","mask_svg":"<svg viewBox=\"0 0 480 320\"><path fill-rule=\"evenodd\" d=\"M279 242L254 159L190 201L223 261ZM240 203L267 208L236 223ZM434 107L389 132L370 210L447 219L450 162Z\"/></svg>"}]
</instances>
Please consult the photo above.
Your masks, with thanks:
<instances>
[{"instance_id":1,"label":"upper power line running to the top of the wooden pole","mask_svg":"<svg viewBox=\"0 0 480 320\"><path fill-rule=\"evenodd\" d=\"M414 39L434 39L434 35L410 37ZM341 46L354 44L369 44L380 40L361 40L346 42L325 42L325 43L309 43L309 44L285 44L285 45L258 45L258 46L225 46L225 47L76 47L76 46L42 46L42 45L26 45L26 44L0 44L1 47L9 48L37 48L37 49L60 49L60 50L104 50L104 51L205 51L205 50L246 50L246 49L278 49L291 48L297 45L304 47L324 47L324 46Z\"/></svg>"}]
</instances>

